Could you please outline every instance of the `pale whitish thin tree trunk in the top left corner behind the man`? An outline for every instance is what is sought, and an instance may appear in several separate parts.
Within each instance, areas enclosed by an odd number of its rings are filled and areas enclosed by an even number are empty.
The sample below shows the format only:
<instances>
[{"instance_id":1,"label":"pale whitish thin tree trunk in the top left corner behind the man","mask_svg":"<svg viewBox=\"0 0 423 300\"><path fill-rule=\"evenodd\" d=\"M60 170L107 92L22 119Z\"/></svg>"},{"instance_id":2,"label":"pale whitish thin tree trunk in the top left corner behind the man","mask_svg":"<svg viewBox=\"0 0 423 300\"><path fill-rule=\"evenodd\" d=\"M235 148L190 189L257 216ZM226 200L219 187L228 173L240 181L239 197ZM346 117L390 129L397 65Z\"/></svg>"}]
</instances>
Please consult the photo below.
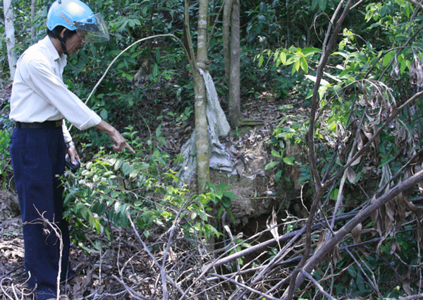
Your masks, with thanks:
<instances>
[{"instance_id":1,"label":"pale whitish thin tree trunk in the top left corner behind the man","mask_svg":"<svg viewBox=\"0 0 423 300\"><path fill-rule=\"evenodd\" d=\"M4 0L4 28L6 33L7 59L11 78L15 76L16 51L15 51L15 27L13 26L13 6L11 0Z\"/></svg>"}]
</instances>

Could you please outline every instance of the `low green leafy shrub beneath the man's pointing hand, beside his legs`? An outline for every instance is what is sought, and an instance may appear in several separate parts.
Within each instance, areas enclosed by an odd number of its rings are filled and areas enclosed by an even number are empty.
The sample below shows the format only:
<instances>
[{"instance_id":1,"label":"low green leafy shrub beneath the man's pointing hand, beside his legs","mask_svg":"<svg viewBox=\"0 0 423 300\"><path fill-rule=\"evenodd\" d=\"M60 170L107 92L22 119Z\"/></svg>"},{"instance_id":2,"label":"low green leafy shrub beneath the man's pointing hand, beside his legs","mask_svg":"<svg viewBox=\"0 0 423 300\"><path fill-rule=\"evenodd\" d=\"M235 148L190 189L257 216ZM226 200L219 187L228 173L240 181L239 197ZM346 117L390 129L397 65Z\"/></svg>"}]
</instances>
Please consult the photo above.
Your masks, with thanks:
<instances>
[{"instance_id":1,"label":"low green leafy shrub beneath the man's pointing hand, beside his legs","mask_svg":"<svg viewBox=\"0 0 423 300\"><path fill-rule=\"evenodd\" d=\"M190 197L186 186L176 187L174 172L163 171L169 159L165 152L152 148L147 155L139 150L139 141L132 144L143 159L123 159L101 151L80 172L68 174L65 217L72 221L75 242L82 243L84 230L109 236L112 227L128 227L127 214L147 238L151 229L166 230L175 223L188 237L219 236L210 220L210 205L229 209L228 197L234 196L227 187Z\"/></svg>"}]
</instances>

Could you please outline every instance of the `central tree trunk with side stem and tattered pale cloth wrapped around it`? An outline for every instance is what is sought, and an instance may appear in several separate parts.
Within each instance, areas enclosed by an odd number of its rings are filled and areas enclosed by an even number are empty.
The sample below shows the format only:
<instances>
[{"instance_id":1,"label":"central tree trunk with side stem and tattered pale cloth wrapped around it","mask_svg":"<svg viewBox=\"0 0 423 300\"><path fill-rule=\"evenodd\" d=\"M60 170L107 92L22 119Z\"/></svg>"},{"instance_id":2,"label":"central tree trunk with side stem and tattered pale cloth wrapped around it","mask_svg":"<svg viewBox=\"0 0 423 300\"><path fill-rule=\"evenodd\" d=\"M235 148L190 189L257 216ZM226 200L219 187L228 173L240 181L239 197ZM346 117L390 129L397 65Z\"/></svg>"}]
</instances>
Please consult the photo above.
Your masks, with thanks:
<instances>
[{"instance_id":1,"label":"central tree trunk with side stem and tattered pale cloth wrapped around it","mask_svg":"<svg viewBox=\"0 0 423 300\"><path fill-rule=\"evenodd\" d=\"M207 58L207 11L208 0L200 1L198 17L198 46L195 57L190 35L189 5L185 1L184 45L195 81L195 134L181 148L184 160L178 173L182 183L189 182L196 172L198 192L202 193L210 182L210 166L233 170L230 155L219 142L226 136L230 126L220 107ZM192 154L196 153L195 156Z\"/></svg>"}]
</instances>

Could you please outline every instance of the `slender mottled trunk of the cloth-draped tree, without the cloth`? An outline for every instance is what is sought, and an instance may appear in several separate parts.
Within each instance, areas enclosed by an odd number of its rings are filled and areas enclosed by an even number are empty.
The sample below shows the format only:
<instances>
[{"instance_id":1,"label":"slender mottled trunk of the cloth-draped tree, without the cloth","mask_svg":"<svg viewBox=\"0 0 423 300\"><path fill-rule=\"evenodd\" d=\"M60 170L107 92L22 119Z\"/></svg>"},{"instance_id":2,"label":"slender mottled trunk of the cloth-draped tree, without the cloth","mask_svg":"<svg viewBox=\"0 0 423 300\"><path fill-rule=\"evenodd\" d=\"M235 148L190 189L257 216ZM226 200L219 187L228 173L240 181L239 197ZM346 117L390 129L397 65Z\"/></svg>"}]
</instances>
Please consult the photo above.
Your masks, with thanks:
<instances>
[{"instance_id":1,"label":"slender mottled trunk of the cloth-draped tree, without the cloth","mask_svg":"<svg viewBox=\"0 0 423 300\"><path fill-rule=\"evenodd\" d=\"M197 61L192 70L195 78L195 138L197 146L197 184L200 193L205 191L207 182L210 181L209 169L209 137L207 131L207 90L204 78L197 68L207 71L207 9L208 0L200 0L198 15L198 40Z\"/></svg>"}]
</instances>

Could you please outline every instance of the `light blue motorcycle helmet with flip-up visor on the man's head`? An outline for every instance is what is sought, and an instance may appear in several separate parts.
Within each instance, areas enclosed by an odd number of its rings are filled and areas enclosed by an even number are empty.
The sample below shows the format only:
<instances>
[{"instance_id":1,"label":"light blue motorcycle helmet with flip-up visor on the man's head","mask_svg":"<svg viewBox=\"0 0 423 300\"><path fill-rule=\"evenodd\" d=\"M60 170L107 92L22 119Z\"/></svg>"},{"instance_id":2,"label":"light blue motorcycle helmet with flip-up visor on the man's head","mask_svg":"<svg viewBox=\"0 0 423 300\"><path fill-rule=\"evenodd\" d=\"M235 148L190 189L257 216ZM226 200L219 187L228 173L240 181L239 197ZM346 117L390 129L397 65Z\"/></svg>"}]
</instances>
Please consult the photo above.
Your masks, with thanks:
<instances>
[{"instance_id":1,"label":"light blue motorcycle helmet with flip-up visor on the man's head","mask_svg":"<svg viewBox=\"0 0 423 300\"><path fill-rule=\"evenodd\" d=\"M87 4L80 0L56 0L47 13L47 28L56 26L76 30L85 42L106 42L109 32L100 13L94 14Z\"/></svg>"}]
</instances>

